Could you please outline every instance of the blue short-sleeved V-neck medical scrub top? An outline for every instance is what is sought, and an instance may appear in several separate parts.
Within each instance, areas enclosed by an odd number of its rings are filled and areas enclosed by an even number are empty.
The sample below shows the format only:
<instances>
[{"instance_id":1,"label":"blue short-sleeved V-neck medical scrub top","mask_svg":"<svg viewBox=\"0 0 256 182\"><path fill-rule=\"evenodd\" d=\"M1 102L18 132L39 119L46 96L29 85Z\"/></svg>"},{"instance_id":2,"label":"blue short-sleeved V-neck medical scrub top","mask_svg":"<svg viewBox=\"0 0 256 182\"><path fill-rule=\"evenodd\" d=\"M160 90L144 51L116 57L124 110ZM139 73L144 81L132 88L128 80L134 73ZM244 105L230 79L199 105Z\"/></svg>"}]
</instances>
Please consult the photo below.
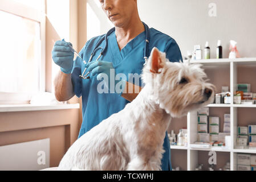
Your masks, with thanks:
<instances>
[{"instance_id":1,"label":"blue short-sleeved V-neck medical scrub top","mask_svg":"<svg viewBox=\"0 0 256 182\"><path fill-rule=\"evenodd\" d=\"M157 47L161 52L166 53L166 57L169 61L176 62L182 61L182 56L180 48L178 47L176 41L170 36L163 34L160 31L150 28L150 43L149 43L149 53L153 47ZM89 40L86 45L80 51L80 56L83 60L88 61L90 59L91 53L94 50L96 44L100 39L103 39L105 35L97 36ZM111 61L113 67L115 68L115 73L124 73L127 77L128 82L135 84L132 77L128 77L128 73L141 74L143 69L143 64L145 63L144 57L144 44L145 44L145 31L137 35L136 38L131 40L121 51L117 44L115 32L108 36L108 48L100 60ZM105 41L100 44L100 47L105 46ZM96 51L95 56L92 61L96 60L99 56L101 49ZM129 101L125 100L123 97L115 93L101 93L97 92L97 84L99 84L96 76L91 77L90 80L83 80L79 77L84 71L84 63L81 59L76 58L74 62L74 68L72 70L72 84L74 93L76 96L82 96L82 113L83 122L80 129L79 137L84 133L91 130L92 127L98 125L101 121L108 118L114 113L118 113L120 110L124 109L125 105ZM143 85L139 82L139 86ZM165 153L162 156L161 168L164 171L172 170L172 165L170 162L170 143L168 135L164 139L164 150Z\"/></svg>"}]
</instances>

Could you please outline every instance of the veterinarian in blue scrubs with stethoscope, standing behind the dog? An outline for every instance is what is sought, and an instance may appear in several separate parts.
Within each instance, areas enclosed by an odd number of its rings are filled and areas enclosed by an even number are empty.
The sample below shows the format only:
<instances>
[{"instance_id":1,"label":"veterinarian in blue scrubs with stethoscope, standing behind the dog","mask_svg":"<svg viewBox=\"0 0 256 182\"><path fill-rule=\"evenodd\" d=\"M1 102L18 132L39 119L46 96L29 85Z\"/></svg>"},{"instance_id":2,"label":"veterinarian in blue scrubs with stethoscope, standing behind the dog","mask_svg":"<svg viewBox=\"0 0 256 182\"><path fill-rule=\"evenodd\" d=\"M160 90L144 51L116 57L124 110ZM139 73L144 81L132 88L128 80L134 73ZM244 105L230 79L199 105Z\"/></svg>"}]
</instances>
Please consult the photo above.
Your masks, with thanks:
<instances>
[{"instance_id":1,"label":"veterinarian in blue scrubs with stethoscope, standing behind the dog","mask_svg":"<svg viewBox=\"0 0 256 182\"><path fill-rule=\"evenodd\" d=\"M97 36L89 40L80 51L79 57L74 59L74 53L71 51L71 43L64 40L55 43L52 50L52 59L60 66L60 72L55 79L55 96L59 101L70 100L74 95L82 96L83 123L80 129L79 137L91 130L92 127L98 125L103 119L124 109L125 105L136 98L141 90L142 82L135 83L129 73L141 74L144 60L145 48L145 26L141 22L137 9L137 0L98 0L101 7L109 20L115 26L115 31L107 36L108 47L104 55L96 63L97 57L102 49L96 49L92 61L84 64L83 60L90 60L91 53L94 51L96 44L104 39L105 35ZM89 25L90 26L90 25ZM182 60L180 48L174 39L170 36L149 28L150 40L148 44L148 52L153 47L157 47L161 52L166 53L166 57L172 61ZM70 45L70 46L69 46ZM105 40L98 47L105 47ZM90 78L82 79L84 69L91 73ZM99 93L98 84L101 82L97 79L101 73L105 73L111 77L111 70L115 71L115 75L123 73L127 80L122 80L120 86L121 92ZM108 83L111 80L107 81ZM119 81L112 82L120 84ZM109 84L106 84L108 90ZM133 92L128 92L129 86L132 86ZM130 90L131 91L131 90ZM125 119L125 118L124 118ZM170 146L166 133L164 139L164 150L162 158L162 170L171 170L170 163Z\"/></svg>"}]
</instances>

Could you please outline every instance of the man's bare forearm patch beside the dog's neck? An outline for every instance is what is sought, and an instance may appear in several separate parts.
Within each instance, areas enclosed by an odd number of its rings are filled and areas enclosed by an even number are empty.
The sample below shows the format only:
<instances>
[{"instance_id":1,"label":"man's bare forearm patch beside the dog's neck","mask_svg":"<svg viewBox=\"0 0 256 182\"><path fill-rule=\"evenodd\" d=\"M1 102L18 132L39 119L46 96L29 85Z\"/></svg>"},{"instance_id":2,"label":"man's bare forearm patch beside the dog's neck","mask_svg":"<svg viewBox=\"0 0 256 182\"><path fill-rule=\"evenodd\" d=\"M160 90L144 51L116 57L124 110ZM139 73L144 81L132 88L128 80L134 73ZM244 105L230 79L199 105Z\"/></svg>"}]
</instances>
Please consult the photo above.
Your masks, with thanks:
<instances>
[{"instance_id":1,"label":"man's bare forearm patch beside the dog's neck","mask_svg":"<svg viewBox=\"0 0 256 182\"><path fill-rule=\"evenodd\" d=\"M142 88L138 85L134 85L130 82L126 82L124 92L121 96L126 100L132 102L140 93L141 89Z\"/></svg>"}]
</instances>

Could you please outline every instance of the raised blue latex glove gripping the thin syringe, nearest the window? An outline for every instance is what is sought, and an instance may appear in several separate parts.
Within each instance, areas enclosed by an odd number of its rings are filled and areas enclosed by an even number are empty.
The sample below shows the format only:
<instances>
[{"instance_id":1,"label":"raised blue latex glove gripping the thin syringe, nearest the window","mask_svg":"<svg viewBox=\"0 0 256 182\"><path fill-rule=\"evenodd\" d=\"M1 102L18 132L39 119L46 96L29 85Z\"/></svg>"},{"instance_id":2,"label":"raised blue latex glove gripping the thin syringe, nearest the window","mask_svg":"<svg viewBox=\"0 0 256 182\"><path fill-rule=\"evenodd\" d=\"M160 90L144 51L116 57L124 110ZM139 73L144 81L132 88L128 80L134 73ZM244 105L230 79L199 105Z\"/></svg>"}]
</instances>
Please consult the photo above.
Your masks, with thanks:
<instances>
[{"instance_id":1,"label":"raised blue latex glove gripping the thin syringe, nearest the window","mask_svg":"<svg viewBox=\"0 0 256 182\"><path fill-rule=\"evenodd\" d=\"M54 44L51 53L54 63L60 66L60 70L63 73L70 74L74 64L74 52L68 45L72 46L71 43L67 43L64 39L58 40Z\"/></svg>"}]
</instances>

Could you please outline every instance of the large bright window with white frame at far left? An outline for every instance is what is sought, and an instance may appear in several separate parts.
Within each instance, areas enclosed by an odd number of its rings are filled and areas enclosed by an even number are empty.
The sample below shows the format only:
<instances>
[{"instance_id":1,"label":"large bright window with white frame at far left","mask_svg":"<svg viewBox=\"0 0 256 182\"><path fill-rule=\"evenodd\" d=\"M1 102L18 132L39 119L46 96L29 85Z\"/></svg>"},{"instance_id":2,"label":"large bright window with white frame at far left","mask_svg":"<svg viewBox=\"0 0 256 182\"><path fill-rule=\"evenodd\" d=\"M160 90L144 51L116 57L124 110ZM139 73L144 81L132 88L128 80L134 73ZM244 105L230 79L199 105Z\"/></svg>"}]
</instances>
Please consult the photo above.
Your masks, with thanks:
<instances>
[{"instance_id":1,"label":"large bright window with white frame at far left","mask_svg":"<svg viewBox=\"0 0 256 182\"><path fill-rule=\"evenodd\" d=\"M27 100L45 90L44 12L44 0L0 2L0 104L3 93L27 94L19 98Z\"/></svg>"}]
</instances>

